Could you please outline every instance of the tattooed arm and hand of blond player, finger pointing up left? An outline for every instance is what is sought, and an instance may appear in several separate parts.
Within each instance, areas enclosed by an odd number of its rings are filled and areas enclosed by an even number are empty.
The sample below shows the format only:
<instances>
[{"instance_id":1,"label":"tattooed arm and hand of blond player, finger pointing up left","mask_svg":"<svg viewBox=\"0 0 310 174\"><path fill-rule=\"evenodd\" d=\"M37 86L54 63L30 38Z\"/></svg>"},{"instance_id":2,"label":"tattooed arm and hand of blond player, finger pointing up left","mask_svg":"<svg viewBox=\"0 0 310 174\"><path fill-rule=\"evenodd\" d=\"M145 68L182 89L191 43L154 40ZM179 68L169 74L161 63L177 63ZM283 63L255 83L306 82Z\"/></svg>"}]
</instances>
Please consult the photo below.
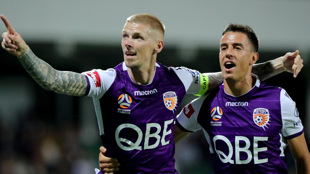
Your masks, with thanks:
<instances>
[{"instance_id":1,"label":"tattooed arm and hand of blond player, finger pointing up left","mask_svg":"<svg viewBox=\"0 0 310 174\"><path fill-rule=\"evenodd\" d=\"M51 65L39 59L11 26L9 20L4 15L0 17L7 27L7 32L2 34L2 48L17 56L26 71L40 86L62 94L85 95L87 81L84 75L55 70Z\"/></svg>"}]
</instances>

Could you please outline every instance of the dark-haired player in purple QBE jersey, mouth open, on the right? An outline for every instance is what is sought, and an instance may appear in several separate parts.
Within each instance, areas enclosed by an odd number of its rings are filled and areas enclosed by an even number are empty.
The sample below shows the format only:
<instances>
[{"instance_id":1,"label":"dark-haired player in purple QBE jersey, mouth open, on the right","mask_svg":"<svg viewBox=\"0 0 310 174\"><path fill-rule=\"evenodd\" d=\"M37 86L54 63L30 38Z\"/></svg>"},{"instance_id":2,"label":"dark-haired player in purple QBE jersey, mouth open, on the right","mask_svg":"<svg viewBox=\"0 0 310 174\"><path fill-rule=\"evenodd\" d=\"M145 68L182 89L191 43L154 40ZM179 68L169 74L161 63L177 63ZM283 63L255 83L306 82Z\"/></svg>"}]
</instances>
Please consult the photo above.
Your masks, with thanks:
<instances>
[{"instance_id":1,"label":"dark-haired player in purple QBE jersey, mouth open, on the right","mask_svg":"<svg viewBox=\"0 0 310 174\"><path fill-rule=\"evenodd\" d=\"M176 141L203 129L215 173L288 173L288 145L298 173L310 154L295 102L286 91L251 74L259 55L252 28L229 24L220 43L224 84L193 100L177 116Z\"/></svg>"}]
</instances>

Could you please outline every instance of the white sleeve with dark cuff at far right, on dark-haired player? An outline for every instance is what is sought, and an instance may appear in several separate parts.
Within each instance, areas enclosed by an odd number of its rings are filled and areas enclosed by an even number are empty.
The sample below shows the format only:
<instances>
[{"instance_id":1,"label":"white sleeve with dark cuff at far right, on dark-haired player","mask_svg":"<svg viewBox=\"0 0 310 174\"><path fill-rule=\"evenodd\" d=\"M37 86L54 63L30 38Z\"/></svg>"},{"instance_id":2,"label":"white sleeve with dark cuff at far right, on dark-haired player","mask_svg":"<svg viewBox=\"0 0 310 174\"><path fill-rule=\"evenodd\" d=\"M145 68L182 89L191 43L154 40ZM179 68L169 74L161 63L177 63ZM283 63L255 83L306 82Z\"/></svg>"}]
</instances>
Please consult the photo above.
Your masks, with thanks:
<instances>
[{"instance_id":1,"label":"white sleeve with dark cuff at far right, on dark-haired player","mask_svg":"<svg viewBox=\"0 0 310 174\"><path fill-rule=\"evenodd\" d=\"M301 124L295 102L284 89L281 90L280 102L283 136L286 139L298 137L303 133L303 125Z\"/></svg>"}]
</instances>

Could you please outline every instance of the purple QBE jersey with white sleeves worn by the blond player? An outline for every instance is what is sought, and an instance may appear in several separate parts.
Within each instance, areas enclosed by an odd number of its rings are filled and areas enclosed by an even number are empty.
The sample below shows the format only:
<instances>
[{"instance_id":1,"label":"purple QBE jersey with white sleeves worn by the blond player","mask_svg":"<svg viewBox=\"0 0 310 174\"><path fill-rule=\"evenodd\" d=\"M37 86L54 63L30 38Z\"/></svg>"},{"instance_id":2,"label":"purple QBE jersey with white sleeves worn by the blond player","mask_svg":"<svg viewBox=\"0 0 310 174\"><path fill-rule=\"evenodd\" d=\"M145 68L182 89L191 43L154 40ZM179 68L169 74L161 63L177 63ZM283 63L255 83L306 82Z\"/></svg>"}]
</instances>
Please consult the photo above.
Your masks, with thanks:
<instances>
[{"instance_id":1,"label":"purple QBE jersey with white sleeves worn by the blond player","mask_svg":"<svg viewBox=\"0 0 310 174\"><path fill-rule=\"evenodd\" d=\"M153 81L134 83L125 63L82 73L88 77L100 136L107 156L117 158L121 173L177 173L173 125L186 93L198 93L199 72L156 63Z\"/></svg>"}]
</instances>

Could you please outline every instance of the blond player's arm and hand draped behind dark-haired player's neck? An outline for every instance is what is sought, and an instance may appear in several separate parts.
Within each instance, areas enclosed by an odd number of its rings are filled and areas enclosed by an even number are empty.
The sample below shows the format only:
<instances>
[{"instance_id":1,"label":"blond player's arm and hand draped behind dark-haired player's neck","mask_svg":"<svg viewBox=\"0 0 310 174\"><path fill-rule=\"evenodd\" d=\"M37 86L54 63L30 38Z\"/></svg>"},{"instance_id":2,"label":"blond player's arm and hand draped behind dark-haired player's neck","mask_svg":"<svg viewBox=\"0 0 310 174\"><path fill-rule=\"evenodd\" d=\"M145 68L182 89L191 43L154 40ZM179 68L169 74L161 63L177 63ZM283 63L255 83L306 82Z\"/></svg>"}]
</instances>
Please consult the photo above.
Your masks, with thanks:
<instances>
[{"instance_id":1,"label":"blond player's arm and hand draped behind dark-haired player's neck","mask_svg":"<svg viewBox=\"0 0 310 174\"><path fill-rule=\"evenodd\" d=\"M294 53L286 53L284 56L277 59L254 64L252 73L257 75L260 80L266 80L284 71L294 73L294 78L296 78L303 67L303 59L301 59L298 54L299 51L296 50ZM222 72L204 73L203 75L207 75L209 78L207 92L210 92L223 83Z\"/></svg>"}]
</instances>

